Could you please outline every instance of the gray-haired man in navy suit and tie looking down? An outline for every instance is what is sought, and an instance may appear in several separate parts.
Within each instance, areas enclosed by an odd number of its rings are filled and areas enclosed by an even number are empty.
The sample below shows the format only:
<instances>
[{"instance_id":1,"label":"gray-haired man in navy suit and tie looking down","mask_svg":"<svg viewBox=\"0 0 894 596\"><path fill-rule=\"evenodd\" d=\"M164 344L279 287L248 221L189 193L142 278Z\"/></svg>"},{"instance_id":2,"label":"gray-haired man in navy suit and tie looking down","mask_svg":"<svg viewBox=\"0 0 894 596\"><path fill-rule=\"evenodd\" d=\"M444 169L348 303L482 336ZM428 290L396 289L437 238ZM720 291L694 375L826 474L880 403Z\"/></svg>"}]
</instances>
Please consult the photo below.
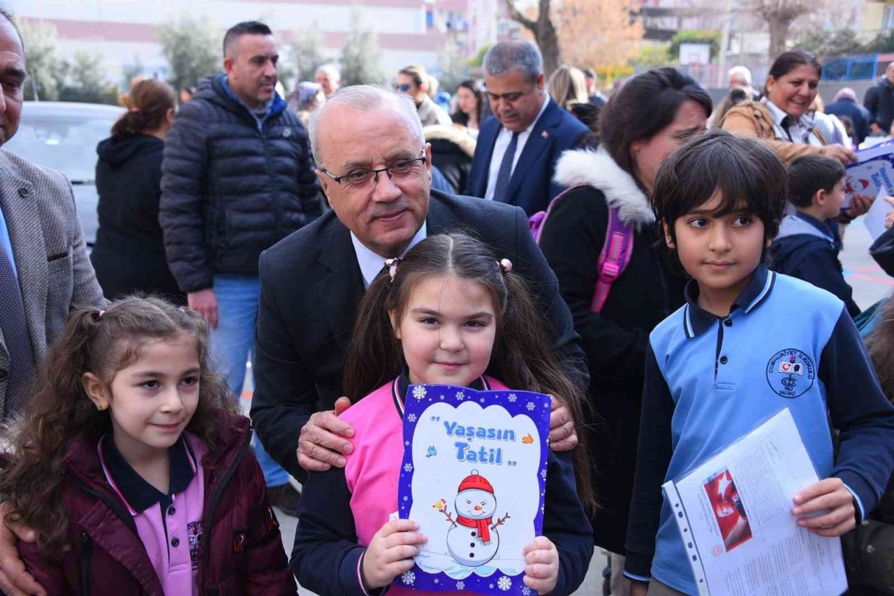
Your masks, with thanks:
<instances>
[{"instance_id":1,"label":"gray-haired man in navy suit and tie looking down","mask_svg":"<svg viewBox=\"0 0 894 596\"><path fill-rule=\"evenodd\" d=\"M543 64L528 41L502 41L488 50L493 116L481 125L468 179L468 194L517 205L528 216L561 192L552 182L555 163L589 132L546 93Z\"/></svg>"}]
</instances>

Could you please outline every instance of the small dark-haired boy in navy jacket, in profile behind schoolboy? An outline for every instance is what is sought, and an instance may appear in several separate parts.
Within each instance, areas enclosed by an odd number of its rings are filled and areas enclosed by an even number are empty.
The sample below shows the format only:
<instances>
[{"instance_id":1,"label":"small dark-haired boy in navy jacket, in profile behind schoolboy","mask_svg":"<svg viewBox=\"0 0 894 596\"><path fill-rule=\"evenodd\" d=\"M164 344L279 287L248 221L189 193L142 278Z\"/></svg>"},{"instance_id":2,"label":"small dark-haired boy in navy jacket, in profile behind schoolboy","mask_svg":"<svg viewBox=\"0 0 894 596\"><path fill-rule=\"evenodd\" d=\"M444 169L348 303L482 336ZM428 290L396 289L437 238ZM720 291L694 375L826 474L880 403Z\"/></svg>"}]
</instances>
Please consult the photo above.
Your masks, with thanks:
<instances>
[{"instance_id":1,"label":"small dark-haired boy in navy jacket, in profile behind schoolboy","mask_svg":"<svg viewBox=\"0 0 894 596\"><path fill-rule=\"evenodd\" d=\"M839 243L829 221L844 204L844 166L837 159L805 155L789 166L789 202L796 212L782 219L770 249L773 270L803 279L839 297L851 317L860 314L853 288L842 275Z\"/></svg>"}]
</instances>

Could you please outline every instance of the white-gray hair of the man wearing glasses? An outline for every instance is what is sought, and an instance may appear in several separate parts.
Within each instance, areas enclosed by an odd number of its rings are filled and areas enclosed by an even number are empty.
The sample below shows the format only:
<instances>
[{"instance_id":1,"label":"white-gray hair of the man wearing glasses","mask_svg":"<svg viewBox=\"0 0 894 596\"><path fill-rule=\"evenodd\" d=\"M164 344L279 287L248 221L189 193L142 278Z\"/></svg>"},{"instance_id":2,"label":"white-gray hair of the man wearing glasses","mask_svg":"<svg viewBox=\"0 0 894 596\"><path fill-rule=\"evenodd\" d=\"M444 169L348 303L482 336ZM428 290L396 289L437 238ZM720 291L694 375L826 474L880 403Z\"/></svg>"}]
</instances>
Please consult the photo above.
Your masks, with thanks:
<instances>
[{"instance_id":1,"label":"white-gray hair of the man wearing glasses","mask_svg":"<svg viewBox=\"0 0 894 596\"><path fill-rule=\"evenodd\" d=\"M372 112L383 107L393 108L400 116L410 136L417 137L419 148L426 146L426 135L422 132L422 123L416 111L416 104L405 93L394 93L379 85L351 85L336 90L326 98L325 103L314 110L310 115L309 135L310 150L314 153L314 161L317 166L323 165L323 156L320 155L320 123L326 112L341 107L351 112Z\"/></svg>"}]
</instances>

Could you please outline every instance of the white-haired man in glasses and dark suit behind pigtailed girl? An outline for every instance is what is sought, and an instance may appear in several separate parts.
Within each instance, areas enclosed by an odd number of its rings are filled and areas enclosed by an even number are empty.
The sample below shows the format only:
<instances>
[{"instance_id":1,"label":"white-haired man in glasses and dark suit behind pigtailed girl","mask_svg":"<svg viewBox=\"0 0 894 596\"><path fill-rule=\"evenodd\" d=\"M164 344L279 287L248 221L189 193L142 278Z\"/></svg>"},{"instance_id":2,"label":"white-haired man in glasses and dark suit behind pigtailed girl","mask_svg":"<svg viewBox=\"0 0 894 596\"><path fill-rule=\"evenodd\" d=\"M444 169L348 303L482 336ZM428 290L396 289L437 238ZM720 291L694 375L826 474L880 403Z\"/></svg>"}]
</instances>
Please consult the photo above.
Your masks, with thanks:
<instances>
[{"instance_id":1,"label":"white-haired man in glasses and dark suit behind pigtailed girl","mask_svg":"<svg viewBox=\"0 0 894 596\"><path fill-rule=\"evenodd\" d=\"M403 255L427 234L470 229L512 260L531 280L569 376L578 385L586 381L568 307L525 213L431 191L431 148L409 98L368 86L340 89L311 116L310 141L333 209L260 259L251 417L279 464L300 479L306 473L299 463L317 471L344 465L342 454L350 451L344 437L352 430L335 418L333 406L342 396L358 302L385 259ZM394 166L401 174L392 173ZM580 387L578 396L561 398L582 399L586 385ZM574 447L566 408L553 412L552 427L553 448Z\"/></svg>"}]
</instances>

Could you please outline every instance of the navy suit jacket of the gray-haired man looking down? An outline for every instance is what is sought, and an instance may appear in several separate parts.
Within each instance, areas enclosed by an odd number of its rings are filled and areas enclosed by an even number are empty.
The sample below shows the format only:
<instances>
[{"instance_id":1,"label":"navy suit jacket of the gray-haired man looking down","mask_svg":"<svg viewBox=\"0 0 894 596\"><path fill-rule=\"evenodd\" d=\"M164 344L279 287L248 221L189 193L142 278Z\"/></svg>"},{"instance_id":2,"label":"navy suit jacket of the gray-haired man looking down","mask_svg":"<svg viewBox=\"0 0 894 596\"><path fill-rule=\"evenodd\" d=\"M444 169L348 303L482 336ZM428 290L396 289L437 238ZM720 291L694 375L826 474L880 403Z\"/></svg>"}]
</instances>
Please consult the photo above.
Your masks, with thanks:
<instances>
[{"instance_id":1,"label":"navy suit jacket of the gray-haired man looking down","mask_svg":"<svg viewBox=\"0 0 894 596\"><path fill-rule=\"evenodd\" d=\"M468 194L473 197L485 196L493 145L500 131L502 124L493 116L481 124L475 157L472 158L472 170L468 176ZM525 209L528 217L537 211L544 211L550 200L563 188L552 182L556 161L562 151L575 147L578 140L588 132L590 131L584 124L551 98L512 170L509 189L502 202Z\"/></svg>"}]
</instances>

